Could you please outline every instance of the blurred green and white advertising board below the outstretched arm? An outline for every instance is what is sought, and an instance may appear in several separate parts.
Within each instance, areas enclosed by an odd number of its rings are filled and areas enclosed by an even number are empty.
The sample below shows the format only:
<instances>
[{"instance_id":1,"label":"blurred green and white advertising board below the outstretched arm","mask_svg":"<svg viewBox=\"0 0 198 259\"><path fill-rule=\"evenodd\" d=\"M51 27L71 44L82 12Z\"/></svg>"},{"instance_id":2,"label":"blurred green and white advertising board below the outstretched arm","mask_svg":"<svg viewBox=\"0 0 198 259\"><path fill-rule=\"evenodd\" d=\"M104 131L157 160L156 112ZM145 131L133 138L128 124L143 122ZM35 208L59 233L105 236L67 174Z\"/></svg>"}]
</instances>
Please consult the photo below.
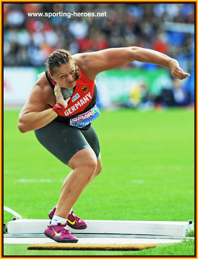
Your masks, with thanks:
<instances>
[{"instance_id":1,"label":"blurred green and white advertising board below the outstretched arm","mask_svg":"<svg viewBox=\"0 0 198 259\"><path fill-rule=\"evenodd\" d=\"M98 103L108 107L113 103L127 103L138 92L138 88L153 95L160 95L163 88L171 88L167 69L114 69L102 72L96 77ZM137 94L136 94L137 95Z\"/></svg>"}]
</instances>

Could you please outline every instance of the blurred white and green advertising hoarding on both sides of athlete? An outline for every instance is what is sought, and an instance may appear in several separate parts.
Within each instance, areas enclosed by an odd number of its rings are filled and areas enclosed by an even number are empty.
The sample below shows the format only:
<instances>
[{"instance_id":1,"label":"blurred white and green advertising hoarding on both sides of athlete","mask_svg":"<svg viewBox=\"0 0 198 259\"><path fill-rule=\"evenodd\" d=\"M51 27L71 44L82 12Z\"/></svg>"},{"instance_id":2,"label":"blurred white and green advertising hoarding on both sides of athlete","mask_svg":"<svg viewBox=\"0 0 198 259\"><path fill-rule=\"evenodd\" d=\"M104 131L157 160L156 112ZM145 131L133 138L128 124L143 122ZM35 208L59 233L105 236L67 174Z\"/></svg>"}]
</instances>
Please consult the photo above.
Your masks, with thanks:
<instances>
[{"instance_id":1,"label":"blurred white and green advertising hoarding on both sides of athlete","mask_svg":"<svg viewBox=\"0 0 198 259\"><path fill-rule=\"evenodd\" d=\"M4 68L4 105L24 105L37 75L45 68ZM171 87L169 71L166 69L114 69L97 75L98 103L108 107L112 103L125 103L140 85L146 91L159 95L162 88Z\"/></svg>"}]
</instances>

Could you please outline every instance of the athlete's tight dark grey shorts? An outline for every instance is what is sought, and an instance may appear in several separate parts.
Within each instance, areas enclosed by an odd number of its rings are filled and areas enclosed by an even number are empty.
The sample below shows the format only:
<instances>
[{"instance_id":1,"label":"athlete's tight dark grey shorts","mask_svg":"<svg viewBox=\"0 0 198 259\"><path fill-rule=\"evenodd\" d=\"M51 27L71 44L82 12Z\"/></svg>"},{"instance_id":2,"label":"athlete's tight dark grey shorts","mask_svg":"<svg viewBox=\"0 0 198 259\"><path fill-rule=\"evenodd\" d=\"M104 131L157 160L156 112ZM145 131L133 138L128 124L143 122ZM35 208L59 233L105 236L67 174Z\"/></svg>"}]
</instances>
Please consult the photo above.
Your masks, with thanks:
<instances>
[{"instance_id":1,"label":"athlete's tight dark grey shorts","mask_svg":"<svg viewBox=\"0 0 198 259\"><path fill-rule=\"evenodd\" d=\"M64 164L68 165L73 155L81 149L90 147L97 160L100 159L100 144L92 125L82 131L66 122L53 120L34 132L38 141Z\"/></svg>"}]
</instances>

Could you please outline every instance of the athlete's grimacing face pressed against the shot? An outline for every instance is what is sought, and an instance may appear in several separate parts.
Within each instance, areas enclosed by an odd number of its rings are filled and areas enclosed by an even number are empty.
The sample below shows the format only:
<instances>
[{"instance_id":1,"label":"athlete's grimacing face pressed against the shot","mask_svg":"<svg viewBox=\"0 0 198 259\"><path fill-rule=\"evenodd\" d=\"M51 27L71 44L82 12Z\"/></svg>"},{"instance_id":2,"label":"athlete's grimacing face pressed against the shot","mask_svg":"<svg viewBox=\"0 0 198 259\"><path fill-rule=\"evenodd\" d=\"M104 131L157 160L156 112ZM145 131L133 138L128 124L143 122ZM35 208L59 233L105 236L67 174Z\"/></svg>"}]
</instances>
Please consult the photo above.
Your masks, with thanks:
<instances>
[{"instance_id":1,"label":"athlete's grimacing face pressed against the shot","mask_svg":"<svg viewBox=\"0 0 198 259\"><path fill-rule=\"evenodd\" d=\"M76 83L75 77L75 64L73 60L70 60L66 64L62 64L61 67L54 67L54 74L52 78L62 88L74 88Z\"/></svg>"}]
</instances>

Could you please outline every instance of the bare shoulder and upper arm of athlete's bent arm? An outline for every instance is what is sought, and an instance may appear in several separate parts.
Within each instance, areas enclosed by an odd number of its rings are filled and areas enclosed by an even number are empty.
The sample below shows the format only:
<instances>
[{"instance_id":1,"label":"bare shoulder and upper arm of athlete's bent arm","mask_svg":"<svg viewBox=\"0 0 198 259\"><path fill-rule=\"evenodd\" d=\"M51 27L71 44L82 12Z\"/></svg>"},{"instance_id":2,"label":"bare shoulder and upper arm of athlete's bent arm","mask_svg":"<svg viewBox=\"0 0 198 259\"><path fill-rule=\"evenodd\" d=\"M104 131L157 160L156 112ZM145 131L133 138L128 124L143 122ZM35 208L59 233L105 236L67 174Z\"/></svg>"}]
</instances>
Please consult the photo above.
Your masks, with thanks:
<instances>
[{"instance_id":1,"label":"bare shoulder and upper arm of athlete's bent arm","mask_svg":"<svg viewBox=\"0 0 198 259\"><path fill-rule=\"evenodd\" d=\"M39 76L33 85L29 98L21 113L41 112L46 109L46 104L54 105L55 95L46 78L45 73Z\"/></svg>"}]
</instances>

